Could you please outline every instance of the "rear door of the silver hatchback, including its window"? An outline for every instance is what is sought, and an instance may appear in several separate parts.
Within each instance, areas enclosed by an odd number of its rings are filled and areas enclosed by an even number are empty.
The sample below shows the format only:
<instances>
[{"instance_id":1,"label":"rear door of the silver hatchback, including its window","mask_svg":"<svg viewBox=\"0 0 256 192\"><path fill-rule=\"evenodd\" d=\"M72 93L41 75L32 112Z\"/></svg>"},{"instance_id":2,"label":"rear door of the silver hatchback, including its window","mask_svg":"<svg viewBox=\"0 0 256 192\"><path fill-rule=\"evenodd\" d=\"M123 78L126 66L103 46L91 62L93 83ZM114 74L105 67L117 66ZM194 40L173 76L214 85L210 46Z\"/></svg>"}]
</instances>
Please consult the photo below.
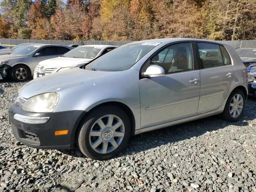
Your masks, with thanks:
<instances>
[{"instance_id":1,"label":"rear door of the silver hatchback, including its window","mask_svg":"<svg viewBox=\"0 0 256 192\"><path fill-rule=\"evenodd\" d=\"M224 46L195 43L200 68L200 99L198 114L220 108L230 92L234 78L234 66Z\"/></svg>"}]
</instances>

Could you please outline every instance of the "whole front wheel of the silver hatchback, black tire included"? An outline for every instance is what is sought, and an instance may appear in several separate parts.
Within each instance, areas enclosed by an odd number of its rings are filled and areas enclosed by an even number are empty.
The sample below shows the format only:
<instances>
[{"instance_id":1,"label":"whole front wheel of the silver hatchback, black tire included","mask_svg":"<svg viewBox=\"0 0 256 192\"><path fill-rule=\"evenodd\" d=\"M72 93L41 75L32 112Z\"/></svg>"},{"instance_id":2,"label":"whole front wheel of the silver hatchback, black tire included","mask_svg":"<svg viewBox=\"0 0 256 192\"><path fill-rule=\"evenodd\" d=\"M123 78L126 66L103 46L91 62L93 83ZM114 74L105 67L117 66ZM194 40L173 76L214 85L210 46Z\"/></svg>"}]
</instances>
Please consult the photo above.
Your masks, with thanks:
<instances>
[{"instance_id":1,"label":"whole front wheel of the silver hatchback, black tire included","mask_svg":"<svg viewBox=\"0 0 256 192\"><path fill-rule=\"evenodd\" d=\"M108 124L111 117L112 124ZM128 143L130 132L130 120L122 109L103 106L82 120L77 131L77 143L80 151L88 158L104 160L121 152Z\"/></svg>"}]
</instances>

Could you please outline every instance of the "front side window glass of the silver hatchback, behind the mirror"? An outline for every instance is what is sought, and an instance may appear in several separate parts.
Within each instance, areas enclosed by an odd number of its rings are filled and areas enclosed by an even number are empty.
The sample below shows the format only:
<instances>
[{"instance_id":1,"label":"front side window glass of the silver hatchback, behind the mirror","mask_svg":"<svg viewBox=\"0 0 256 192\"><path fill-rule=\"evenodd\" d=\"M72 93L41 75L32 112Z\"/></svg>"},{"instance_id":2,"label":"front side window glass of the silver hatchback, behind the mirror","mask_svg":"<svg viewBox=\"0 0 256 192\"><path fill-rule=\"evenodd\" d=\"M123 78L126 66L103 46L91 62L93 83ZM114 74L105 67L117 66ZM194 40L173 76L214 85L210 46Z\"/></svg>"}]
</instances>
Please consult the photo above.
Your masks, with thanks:
<instances>
[{"instance_id":1,"label":"front side window glass of the silver hatchback, behind the mirror","mask_svg":"<svg viewBox=\"0 0 256 192\"><path fill-rule=\"evenodd\" d=\"M150 65L161 66L164 68L165 74L193 70L194 61L191 43L178 43L160 50L148 60L142 71Z\"/></svg>"}]
</instances>

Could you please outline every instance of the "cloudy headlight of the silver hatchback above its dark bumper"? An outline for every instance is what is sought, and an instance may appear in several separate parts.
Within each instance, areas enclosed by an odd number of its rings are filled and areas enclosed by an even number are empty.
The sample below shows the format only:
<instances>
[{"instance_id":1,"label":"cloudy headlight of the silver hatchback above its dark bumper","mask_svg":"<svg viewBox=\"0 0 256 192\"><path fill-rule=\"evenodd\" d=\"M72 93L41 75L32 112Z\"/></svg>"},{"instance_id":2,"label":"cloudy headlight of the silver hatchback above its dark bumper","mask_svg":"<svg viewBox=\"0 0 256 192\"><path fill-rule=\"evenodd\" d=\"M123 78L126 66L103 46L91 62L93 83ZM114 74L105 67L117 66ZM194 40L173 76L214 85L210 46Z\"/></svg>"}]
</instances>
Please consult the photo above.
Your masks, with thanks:
<instances>
[{"instance_id":1,"label":"cloudy headlight of the silver hatchback above its dark bumper","mask_svg":"<svg viewBox=\"0 0 256 192\"><path fill-rule=\"evenodd\" d=\"M22 110L36 113L53 112L59 100L60 94L57 92L43 93L26 100L22 106Z\"/></svg>"}]
</instances>

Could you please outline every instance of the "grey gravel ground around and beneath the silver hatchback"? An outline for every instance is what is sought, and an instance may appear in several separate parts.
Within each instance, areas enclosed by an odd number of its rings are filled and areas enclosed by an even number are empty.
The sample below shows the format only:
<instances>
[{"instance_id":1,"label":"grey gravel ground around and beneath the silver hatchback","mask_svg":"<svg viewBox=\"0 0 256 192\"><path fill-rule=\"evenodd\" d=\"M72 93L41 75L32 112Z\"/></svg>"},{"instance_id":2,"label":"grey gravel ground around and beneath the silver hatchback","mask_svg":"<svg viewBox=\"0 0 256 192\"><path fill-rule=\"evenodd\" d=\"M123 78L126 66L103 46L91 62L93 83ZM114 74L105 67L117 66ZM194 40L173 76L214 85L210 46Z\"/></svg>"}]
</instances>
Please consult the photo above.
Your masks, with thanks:
<instances>
[{"instance_id":1,"label":"grey gravel ground around and beneath the silver hatchback","mask_svg":"<svg viewBox=\"0 0 256 192\"><path fill-rule=\"evenodd\" d=\"M1 191L256 192L256 100L235 123L211 117L134 136L116 158L37 150L12 135L6 104L24 83L0 83Z\"/></svg>"}]
</instances>

